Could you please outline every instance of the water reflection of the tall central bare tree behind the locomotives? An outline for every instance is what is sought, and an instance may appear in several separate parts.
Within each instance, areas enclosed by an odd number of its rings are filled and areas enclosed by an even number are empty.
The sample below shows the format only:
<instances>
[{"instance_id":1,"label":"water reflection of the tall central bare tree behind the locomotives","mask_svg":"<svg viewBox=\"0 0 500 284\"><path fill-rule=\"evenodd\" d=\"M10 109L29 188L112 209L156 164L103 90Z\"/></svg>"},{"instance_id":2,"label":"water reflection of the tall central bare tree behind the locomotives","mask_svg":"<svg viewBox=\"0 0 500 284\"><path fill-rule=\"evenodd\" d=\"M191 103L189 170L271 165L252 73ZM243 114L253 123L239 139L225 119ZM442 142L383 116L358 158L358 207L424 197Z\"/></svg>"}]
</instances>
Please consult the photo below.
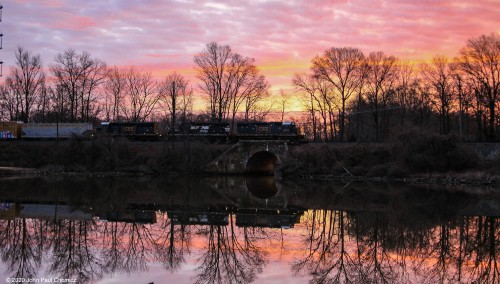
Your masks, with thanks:
<instances>
[{"instance_id":1,"label":"water reflection of the tall central bare tree behind the locomotives","mask_svg":"<svg viewBox=\"0 0 500 284\"><path fill-rule=\"evenodd\" d=\"M243 231L243 232L241 232ZM250 283L262 272L264 253L255 245L259 230L235 230L233 215L228 226L200 228L207 237L206 251L200 257L196 283ZM240 240L243 233L243 241Z\"/></svg>"}]
</instances>

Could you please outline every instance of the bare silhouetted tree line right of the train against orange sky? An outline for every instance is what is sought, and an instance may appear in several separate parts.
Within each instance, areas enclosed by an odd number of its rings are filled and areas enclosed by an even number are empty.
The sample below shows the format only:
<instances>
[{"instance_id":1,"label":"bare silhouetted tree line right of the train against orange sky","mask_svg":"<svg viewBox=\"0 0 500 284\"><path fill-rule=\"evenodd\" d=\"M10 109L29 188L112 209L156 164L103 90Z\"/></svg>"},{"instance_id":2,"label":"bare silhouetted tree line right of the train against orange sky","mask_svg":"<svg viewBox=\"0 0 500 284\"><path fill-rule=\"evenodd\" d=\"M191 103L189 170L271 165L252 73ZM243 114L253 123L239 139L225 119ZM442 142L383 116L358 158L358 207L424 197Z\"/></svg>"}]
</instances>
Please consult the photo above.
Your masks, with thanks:
<instances>
[{"instance_id":1,"label":"bare silhouetted tree line right of the train against orange sky","mask_svg":"<svg viewBox=\"0 0 500 284\"><path fill-rule=\"evenodd\" d=\"M399 60L333 47L292 80L314 141L386 141L417 127L460 141L496 141L500 119L500 36L469 39L449 59Z\"/></svg>"}]
</instances>

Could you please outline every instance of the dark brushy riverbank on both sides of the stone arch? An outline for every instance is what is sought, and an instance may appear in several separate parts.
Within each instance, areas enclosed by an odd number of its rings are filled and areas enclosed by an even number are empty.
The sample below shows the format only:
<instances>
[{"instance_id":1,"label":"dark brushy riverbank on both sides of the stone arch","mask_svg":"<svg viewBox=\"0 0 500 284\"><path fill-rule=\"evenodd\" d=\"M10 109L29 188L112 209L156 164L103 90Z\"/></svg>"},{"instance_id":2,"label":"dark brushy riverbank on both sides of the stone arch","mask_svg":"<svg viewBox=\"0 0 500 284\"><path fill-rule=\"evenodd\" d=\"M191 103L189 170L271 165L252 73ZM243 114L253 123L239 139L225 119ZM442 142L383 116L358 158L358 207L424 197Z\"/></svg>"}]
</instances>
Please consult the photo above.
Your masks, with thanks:
<instances>
[{"instance_id":1,"label":"dark brushy riverbank on both sides of the stone arch","mask_svg":"<svg viewBox=\"0 0 500 284\"><path fill-rule=\"evenodd\" d=\"M205 175L205 165L230 147L120 139L3 141L0 146L0 175L27 176ZM488 147L436 135L402 135L376 144L311 143L290 146L277 171L286 179L496 185L500 146Z\"/></svg>"}]
</instances>

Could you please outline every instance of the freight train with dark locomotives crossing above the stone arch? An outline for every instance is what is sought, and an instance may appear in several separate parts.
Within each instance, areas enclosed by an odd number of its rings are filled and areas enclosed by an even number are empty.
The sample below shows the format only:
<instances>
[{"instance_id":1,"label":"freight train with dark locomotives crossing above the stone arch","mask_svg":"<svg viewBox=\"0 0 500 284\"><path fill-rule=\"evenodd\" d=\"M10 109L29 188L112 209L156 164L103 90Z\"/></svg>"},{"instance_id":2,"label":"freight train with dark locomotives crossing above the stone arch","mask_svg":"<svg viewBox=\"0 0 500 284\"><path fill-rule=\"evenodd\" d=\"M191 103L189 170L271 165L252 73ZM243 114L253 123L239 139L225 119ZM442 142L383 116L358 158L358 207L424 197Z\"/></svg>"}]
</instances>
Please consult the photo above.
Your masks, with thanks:
<instances>
[{"instance_id":1,"label":"freight train with dark locomotives crossing above the stone arch","mask_svg":"<svg viewBox=\"0 0 500 284\"><path fill-rule=\"evenodd\" d=\"M0 122L2 140L51 140L79 137L124 137L130 140L161 141L202 139L209 142L240 140L287 140L303 143L305 138L293 122L189 123L162 135L156 122L19 123Z\"/></svg>"}]
</instances>

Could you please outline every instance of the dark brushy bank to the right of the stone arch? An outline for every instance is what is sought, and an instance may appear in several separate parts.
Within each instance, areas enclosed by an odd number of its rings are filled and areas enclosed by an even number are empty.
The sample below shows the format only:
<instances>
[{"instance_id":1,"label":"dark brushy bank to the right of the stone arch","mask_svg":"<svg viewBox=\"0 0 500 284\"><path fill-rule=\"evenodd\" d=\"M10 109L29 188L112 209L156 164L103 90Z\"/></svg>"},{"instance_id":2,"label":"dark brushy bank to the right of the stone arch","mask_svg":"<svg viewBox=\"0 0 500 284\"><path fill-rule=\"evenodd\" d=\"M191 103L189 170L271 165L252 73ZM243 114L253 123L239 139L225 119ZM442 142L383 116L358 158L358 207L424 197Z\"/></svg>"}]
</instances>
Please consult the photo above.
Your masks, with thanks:
<instances>
[{"instance_id":1,"label":"dark brushy bank to the right of the stone arch","mask_svg":"<svg viewBox=\"0 0 500 284\"><path fill-rule=\"evenodd\" d=\"M357 176L402 179L492 180L500 159L481 160L477 151L451 136L408 132L387 143L320 143L291 148L284 176Z\"/></svg>"}]
</instances>

